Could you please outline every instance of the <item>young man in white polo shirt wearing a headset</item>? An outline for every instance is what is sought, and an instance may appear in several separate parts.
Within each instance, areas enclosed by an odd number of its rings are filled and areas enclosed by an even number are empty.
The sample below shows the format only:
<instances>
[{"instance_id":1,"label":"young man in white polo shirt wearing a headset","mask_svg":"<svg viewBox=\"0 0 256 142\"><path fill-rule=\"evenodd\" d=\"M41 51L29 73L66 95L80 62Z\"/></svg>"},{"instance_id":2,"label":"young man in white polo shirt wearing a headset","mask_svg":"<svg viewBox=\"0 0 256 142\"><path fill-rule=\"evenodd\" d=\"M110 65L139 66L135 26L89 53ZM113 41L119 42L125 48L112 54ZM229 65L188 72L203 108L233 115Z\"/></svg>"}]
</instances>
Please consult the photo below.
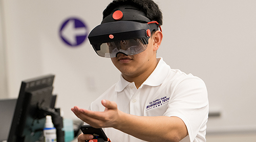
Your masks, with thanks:
<instances>
[{"instance_id":1,"label":"young man in white polo shirt wearing a headset","mask_svg":"<svg viewBox=\"0 0 256 142\"><path fill-rule=\"evenodd\" d=\"M157 21L157 22L156 22ZM113 141L206 141L204 82L156 57L162 13L152 0L113 1L89 35L99 56L110 57L120 81L90 106L72 111ZM150 31L149 31L150 30ZM80 134L78 141L92 139Z\"/></svg>"}]
</instances>

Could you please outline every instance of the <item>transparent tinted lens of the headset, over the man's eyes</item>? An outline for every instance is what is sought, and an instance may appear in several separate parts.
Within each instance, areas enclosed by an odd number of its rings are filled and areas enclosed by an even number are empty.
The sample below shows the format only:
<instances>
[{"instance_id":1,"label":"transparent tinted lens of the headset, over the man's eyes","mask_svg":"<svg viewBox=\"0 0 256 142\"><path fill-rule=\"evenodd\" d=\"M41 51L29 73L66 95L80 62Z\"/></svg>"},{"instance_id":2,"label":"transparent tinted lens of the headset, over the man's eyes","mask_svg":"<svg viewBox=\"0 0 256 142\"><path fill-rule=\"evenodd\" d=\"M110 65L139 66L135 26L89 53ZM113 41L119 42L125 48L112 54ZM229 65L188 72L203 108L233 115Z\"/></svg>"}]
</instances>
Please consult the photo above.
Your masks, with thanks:
<instances>
[{"instance_id":1,"label":"transparent tinted lens of the headset, over the man's eyes","mask_svg":"<svg viewBox=\"0 0 256 142\"><path fill-rule=\"evenodd\" d=\"M135 55L145 51L147 44L143 44L142 39L128 39L113 42L106 42L100 45L100 50L96 51L101 57L114 58L117 54Z\"/></svg>"}]
</instances>

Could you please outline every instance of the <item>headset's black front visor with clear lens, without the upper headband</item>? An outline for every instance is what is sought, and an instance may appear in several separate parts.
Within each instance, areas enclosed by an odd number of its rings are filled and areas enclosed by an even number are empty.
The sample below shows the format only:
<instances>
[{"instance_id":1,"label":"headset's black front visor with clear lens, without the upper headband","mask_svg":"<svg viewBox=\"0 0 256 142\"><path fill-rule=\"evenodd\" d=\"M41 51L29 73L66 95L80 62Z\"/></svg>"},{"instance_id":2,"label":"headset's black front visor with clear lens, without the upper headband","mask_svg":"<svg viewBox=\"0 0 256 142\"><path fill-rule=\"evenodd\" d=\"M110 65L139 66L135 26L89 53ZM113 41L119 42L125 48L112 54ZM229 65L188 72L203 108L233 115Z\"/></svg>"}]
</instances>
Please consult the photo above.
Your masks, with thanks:
<instances>
[{"instance_id":1,"label":"headset's black front visor with clear lens, without the upper headband","mask_svg":"<svg viewBox=\"0 0 256 142\"><path fill-rule=\"evenodd\" d=\"M114 58L118 53L135 55L143 52L153 30L158 26L135 21L115 21L101 23L88 38L95 52L106 58Z\"/></svg>"}]
</instances>

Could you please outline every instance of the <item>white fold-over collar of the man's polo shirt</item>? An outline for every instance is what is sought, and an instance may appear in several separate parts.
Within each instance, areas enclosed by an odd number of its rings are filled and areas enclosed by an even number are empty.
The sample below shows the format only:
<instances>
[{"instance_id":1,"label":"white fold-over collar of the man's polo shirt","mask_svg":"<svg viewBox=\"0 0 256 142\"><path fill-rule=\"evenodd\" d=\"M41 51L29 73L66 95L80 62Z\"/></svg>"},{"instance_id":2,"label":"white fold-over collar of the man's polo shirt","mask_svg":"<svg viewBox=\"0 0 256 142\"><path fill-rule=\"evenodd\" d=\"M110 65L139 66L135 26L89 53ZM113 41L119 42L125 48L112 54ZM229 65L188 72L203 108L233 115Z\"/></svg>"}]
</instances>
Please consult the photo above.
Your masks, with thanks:
<instances>
[{"instance_id":1,"label":"white fold-over collar of the man's polo shirt","mask_svg":"<svg viewBox=\"0 0 256 142\"><path fill-rule=\"evenodd\" d=\"M169 73L169 66L163 61L160 57L160 60L157 64L157 67L153 71L153 73L142 83L142 85L148 86L158 86L161 85ZM132 82L134 84L134 82ZM131 84L131 82L126 81L122 76L120 76L120 80L117 82L115 90L120 92L127 85Z\"/></svg>"}]
</instances>

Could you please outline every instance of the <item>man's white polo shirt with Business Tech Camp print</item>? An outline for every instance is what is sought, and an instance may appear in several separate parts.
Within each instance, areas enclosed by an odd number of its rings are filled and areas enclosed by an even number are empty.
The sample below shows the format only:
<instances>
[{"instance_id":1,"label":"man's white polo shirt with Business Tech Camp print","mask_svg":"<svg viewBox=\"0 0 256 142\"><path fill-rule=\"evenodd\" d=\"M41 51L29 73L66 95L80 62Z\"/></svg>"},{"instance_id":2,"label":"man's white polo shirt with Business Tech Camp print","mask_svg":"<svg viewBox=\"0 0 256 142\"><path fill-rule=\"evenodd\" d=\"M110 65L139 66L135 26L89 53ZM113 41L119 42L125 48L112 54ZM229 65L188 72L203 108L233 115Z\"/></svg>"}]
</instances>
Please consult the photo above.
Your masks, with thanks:
<instances>
[{"instance_id":1,"label":"man's white polo shirt with Business Tech Camp print","mask_svg":"<svg viewBox=\"0 0 256 142\"><path fill-rule=\"evenodd\" d=\"M181 141L206 141L208 97L204 82L179 69L171 69L162 58L138 89L134 82L120 77L120 81L96 99L89 109L104 111L103 99L116 102L119 110L133 115L177 116L188 130L188 136ZM104 131L112 142L143 141L114 128L104 128Z\"/></svg>"}]
</instances>

